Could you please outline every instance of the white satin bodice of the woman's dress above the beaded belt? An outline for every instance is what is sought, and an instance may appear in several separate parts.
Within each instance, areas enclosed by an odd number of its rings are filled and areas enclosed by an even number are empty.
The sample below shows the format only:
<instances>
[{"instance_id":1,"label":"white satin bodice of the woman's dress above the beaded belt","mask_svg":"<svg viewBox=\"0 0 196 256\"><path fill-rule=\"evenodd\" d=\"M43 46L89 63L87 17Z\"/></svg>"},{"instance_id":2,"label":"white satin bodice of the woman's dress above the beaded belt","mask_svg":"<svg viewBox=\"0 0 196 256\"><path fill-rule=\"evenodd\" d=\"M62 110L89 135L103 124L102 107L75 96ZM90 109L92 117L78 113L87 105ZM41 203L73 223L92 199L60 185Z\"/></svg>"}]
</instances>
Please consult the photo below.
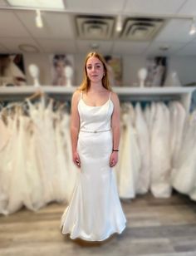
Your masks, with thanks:
<instances>
[{"instance_id":1,"label":"white satin bodice of the woman's dress above the beaded belt","mask_svg":"<svg viewBox=\"0 0 196 256\"><path fill-rule=\"evenodd\" d=\"M88 106L81 99L78 102L78 111L81 121L81 130L101 131L110 130L110 120L114 109L113 102L110 100L102 106Z\"/></svg>"}]
</instances>

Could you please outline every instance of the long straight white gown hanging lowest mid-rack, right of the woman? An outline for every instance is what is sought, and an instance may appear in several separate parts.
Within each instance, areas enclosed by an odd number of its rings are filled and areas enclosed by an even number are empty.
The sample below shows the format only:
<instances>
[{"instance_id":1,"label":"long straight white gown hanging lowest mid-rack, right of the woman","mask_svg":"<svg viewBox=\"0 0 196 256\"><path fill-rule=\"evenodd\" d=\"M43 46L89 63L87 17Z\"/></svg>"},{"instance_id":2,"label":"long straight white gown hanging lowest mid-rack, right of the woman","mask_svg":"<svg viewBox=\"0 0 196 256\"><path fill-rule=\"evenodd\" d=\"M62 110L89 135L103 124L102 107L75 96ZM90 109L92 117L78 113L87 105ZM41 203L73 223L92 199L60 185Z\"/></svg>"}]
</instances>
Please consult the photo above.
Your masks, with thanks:
<instances>
[{"instance_id":1,"label":"long straight white gown hanging lowest mid-rack, right of the woman","mask_svg":"<svg viewBox=\"0 0 196 256\"><path fill-rule=\"evenodd\" d=\"M164 103L157 103L151 134L150 190L158 198L167 198L171 195L169 126L167 106Z\"/></svg>"}]
</instances>

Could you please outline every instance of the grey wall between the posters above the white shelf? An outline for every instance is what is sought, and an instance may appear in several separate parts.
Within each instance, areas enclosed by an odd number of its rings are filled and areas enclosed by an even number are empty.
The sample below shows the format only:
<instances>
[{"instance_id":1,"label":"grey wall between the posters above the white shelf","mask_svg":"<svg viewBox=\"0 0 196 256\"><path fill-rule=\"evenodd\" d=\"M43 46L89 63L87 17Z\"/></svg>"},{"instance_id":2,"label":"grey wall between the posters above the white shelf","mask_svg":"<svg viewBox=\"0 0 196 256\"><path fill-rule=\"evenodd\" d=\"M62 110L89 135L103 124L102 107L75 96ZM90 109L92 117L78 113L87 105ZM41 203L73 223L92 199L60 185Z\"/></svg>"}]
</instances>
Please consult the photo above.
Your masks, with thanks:
<instances>
[{"instance_id":1,"label":"grey wall between the posters above the white shelf","mask_svg":"<svg viewBox=\"0 0 196 256\"><path fill-rule=\"evenodd\" d=\"M31 63L37 64L40 68L40 83L51 85L51 64L47 53L26 53L24 62L27 73L27 84L32 85L32 78L29 75L27 66ZM75 55L76 85L81 83L83 77L83 62L85 54ZM146 66L145 56L125 56L123 57L123 84L125 86L137 86L137 71ZM196 57L170 57L168 60L168 72L176 71L182 85L196 81Z\"/></svg>"}]
</instances>

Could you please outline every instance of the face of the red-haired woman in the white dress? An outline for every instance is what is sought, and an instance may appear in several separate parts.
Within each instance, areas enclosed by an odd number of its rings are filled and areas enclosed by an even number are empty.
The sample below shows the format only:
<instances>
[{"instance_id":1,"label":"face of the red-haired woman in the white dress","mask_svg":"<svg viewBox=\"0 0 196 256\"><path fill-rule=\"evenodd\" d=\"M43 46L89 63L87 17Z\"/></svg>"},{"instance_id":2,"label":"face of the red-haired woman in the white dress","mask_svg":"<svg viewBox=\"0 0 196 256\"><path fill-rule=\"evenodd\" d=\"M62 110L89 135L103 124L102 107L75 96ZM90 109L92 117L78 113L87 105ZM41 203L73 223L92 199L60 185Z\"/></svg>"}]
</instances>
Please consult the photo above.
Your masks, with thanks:
<instances>
[{"instance_id":1,"label":"face of the red-haired woman in the white dress","mask_svg":"<svg viewBox=\"0 0 196 256\"><path fill-rule=\"evenodd\" d=\"M96 57L90 57L86 62L86 72L92 82L101 81L104 76L103 63Z\"/></svg>"}]
</instances>

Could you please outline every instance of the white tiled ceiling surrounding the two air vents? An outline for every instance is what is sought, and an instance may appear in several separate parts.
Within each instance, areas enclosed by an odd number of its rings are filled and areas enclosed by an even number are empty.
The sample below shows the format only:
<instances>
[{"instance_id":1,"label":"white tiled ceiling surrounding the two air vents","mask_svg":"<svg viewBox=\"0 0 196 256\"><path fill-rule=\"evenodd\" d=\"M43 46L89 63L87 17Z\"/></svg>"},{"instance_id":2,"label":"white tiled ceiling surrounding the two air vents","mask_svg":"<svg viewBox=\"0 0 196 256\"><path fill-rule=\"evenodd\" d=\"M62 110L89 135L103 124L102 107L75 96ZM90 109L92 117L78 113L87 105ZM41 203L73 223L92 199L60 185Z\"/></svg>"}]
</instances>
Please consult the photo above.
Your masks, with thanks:
<instances>
[{"instance_id":1,"label":"white tiled ceiling surrounding the two air vents","mask_svg":"<svg viewBox=\"0 0 196 256\"><path fill-rule=\"evenodd\" d=\"M56 1L56 0L50 0ZM103 54L164 55L196 57L196 36L189 35L191 18L196 17L196 0L64 0L65 10L41 10L43 28L36 27L35 9L11 7L0 0L0 52L86 53L97 49ZM115 31L118 13L124 24L131 18L163 19L163 25L146 40L125 37ZM92 30L82 37L82 19L76 17L106 17L110 22L107 36ZM112 20L112 22L111 22ZM126 24L127 25L127 24ZM104 24L105 26L105 24ZM95 27L95 26L94 26ZM97 28L97 27L96 27ZM88 27L86 28L88 30ZM160 50L162 48L162 50Z\"/></svg>"}]
</instances>

